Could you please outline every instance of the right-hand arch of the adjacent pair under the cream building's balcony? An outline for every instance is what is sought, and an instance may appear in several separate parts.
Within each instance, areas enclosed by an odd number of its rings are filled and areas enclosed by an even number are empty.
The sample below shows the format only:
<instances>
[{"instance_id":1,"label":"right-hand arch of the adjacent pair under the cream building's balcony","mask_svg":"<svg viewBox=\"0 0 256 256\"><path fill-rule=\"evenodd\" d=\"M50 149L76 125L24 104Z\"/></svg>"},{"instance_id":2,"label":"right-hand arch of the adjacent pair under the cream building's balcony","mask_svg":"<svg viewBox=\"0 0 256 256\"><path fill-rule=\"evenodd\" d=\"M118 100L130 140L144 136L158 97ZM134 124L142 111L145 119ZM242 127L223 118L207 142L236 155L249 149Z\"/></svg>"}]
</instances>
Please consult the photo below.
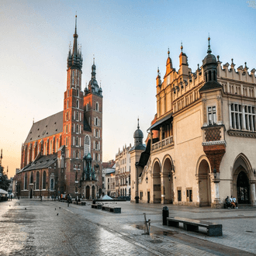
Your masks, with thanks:
<instances>
[{"instance_id":1,"label":"right-hand arch of the adjacent pair under the cream building's balcony","mask_svg":"<svg viewBox=\"0 0 256 256\"><path fill-rule=\"evenodd\" d=\"M171 159L166 158L163 164L163 187L162 187L162 203L173 202L173 179L172 179L172 164ZM164 201L163 201L164 199Z\"/></svg>"}]
</instances>

